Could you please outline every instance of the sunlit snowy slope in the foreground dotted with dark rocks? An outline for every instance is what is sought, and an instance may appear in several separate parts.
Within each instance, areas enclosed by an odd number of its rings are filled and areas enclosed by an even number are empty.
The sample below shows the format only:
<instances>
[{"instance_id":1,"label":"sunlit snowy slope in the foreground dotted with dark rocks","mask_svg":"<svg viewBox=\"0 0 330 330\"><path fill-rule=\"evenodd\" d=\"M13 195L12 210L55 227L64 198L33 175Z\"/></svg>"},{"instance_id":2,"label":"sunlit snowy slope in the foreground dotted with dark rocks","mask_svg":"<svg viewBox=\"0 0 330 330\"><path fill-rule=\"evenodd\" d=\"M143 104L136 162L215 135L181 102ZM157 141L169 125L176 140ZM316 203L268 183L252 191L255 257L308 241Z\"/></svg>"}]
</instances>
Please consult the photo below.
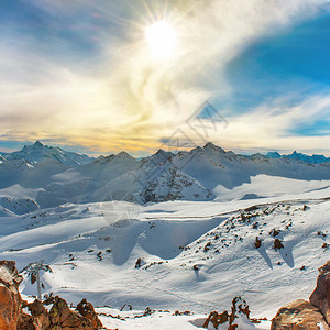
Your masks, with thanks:
<instances>
[{"instance_id":1,"label":"sunlit snowy slope in the foreground dotted with dark rocks","mask_svg":"<svg viewBox=\"0 0 330 330\"><path fill-rule=\"evenodd\" d=\"M308 298L317 268L329 258L329 193L324 198L324 190L315 189L312 197L307 191L280 202L65 205L2 217L1 258L16 260L19 268L44 258L54 271L42 276L45 292L69 301L87 297L117 309L130 304L135 314L145 307L191 311L177 321L180 329L229 309L234 296L248 300L252 316L272 318L282 305ZM275 239L284 249L274 250ZM28 280L23 294L35 294ZM162 324L157 316L141 327ZM102 320L109 328L136 324L133 315L130 321Z\"/></svg>"}]
</instances>

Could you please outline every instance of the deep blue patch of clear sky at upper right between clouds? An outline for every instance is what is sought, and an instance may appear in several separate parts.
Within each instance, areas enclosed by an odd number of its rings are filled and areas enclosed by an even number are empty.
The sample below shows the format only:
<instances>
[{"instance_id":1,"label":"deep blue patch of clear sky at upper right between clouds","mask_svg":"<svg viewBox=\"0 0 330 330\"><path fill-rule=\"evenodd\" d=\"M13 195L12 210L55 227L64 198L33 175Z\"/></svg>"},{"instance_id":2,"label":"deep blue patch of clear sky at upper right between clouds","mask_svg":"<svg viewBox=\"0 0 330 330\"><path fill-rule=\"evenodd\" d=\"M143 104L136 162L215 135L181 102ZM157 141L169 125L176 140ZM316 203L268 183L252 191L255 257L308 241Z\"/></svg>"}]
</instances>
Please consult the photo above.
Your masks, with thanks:
<instances>
[{"instance_id":1,"label":"deep blue patch of clear sky at upper right between clouds","mask_svg":"<svg viewBox=\"0 0 330 330\"><path fill-rule=\"evenodd\" d=\"M227 67L234 88L235 108L292 90L305 96L330 86L330 13L264 37L242 52ZM298 101L298 100L296 100Z\"/></svg>"}]
</instances>

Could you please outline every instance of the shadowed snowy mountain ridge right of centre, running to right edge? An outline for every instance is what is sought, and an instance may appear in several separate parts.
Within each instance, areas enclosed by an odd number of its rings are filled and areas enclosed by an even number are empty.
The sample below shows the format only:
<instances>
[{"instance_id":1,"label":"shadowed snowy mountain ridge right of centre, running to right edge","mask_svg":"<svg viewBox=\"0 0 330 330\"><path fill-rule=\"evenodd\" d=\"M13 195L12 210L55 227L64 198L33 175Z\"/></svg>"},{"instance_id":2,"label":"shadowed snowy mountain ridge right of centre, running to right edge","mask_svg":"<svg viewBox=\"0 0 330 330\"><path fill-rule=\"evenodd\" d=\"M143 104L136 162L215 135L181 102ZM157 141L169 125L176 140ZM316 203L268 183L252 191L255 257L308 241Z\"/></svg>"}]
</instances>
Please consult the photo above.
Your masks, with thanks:
<instances>
[{"instance_id":1,"label":"shadowed snowy mountain ridge right of centre, running to right edge","mask_svg":"<svg viewBox=\"0 0 330 330\"><path fill-rule=\"evenodd\" d=\"M330 178L330 163L309 164L287 157L267 158L262 154L244 156L212 143L178 153L173 163L213 193L219 186L232 189L250 183L258 174L307 180Z\"/></svg>"}]
</instances>

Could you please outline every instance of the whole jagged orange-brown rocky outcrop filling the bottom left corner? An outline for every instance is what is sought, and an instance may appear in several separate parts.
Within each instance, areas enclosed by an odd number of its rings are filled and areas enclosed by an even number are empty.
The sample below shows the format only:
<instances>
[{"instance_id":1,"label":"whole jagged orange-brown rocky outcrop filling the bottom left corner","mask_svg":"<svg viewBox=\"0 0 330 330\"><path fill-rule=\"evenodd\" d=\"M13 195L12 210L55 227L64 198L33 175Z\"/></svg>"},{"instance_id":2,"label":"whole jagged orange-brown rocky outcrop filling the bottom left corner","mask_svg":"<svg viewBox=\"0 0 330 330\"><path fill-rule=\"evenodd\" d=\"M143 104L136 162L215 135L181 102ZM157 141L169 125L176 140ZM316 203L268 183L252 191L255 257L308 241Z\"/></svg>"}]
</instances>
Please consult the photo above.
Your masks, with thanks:
<instances>
[{"instance_id":1,"label":"whole jagged orange-brown rocky outcrop filling the bottom left corner","mask_svg":"<svg viewBox=\"0 0 330 330\"><path fill-rule=\"evenodd\" d=\"M0 261L1 330L97 330L102 328L92 305L86 299L78 304L76 310L72 310L63 298L52 297L47 301L53 304L50 312L37 299L31 304L22 301L19 293L22 279L14 262ZM28 307L31 315L24 314L22 307Z\"/></svg>"}]
</instances>

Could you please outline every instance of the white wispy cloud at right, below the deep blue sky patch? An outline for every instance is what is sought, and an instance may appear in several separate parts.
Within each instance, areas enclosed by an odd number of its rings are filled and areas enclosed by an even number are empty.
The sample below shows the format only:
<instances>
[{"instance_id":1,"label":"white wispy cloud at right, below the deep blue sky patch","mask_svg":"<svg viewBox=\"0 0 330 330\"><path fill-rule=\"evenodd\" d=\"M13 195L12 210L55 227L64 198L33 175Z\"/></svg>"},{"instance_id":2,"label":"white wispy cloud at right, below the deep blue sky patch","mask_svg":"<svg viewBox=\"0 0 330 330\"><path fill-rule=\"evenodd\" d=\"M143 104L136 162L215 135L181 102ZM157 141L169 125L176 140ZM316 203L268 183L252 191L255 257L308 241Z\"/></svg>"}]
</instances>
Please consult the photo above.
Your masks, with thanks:
<instances>
[{"instance_id":1,"label":"white wispy cloud at right, below the deep blue sky patch","mask_svg":"<svg viewBox=\"0 0 330 330\"><path fill-rule=\"evenodd\" d=\"M211 141L237 151L298 150L330 155L329 95L307 98L301 95L301 102L294 106L287 106L288 97L278 98L244 114L227 118L229 125L226 129L209 129L207 133ZM308 125L320 118L328 129L320 128L315 135L307 135ZM188 134L194 136L194 132Z\"/></svg>"}]
</instances>

